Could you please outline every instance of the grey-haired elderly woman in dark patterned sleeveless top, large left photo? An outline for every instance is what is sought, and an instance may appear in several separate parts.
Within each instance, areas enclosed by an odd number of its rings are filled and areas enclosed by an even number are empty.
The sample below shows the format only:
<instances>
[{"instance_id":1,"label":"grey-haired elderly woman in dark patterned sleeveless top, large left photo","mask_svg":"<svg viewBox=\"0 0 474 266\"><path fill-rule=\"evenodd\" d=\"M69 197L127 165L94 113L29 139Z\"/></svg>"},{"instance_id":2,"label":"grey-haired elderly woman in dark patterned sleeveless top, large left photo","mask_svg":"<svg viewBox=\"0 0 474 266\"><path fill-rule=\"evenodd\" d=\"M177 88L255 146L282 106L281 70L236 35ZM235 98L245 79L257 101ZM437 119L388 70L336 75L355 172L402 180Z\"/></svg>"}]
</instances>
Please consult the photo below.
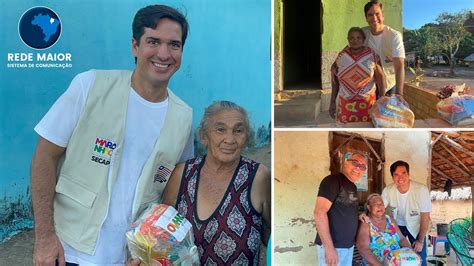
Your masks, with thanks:
<instances>
[{"instance_id":1,"label":"grey-haired elderly woman in dark patterned sleeveless top, large left photo","mask_svg":"<svg viewBox=\"0 0 474 266\"><path fill-rule=\"evenodd\" d=\"M203 265L257 265L270 233L269 170L241 156L249 137L247 112L218 101L206 108L199 137L207 155L174 169L163 203L193 226Z\"/></svg>"}]
</instances>

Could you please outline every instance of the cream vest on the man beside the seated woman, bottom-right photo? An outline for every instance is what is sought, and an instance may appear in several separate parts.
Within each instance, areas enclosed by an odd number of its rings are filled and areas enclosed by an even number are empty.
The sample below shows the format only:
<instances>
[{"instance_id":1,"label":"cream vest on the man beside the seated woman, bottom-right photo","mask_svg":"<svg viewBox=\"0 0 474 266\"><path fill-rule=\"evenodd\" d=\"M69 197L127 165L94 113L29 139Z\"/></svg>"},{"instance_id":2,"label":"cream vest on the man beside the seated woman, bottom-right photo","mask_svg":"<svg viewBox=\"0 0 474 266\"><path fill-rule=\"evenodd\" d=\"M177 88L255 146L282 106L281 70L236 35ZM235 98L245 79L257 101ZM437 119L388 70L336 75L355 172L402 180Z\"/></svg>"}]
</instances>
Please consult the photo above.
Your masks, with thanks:
<instances>
[{"instance_id":1,"label":"cream vest on the man beside the seated woman, bottom-right photo","mask_svg":"<svg viewBox=\"0 0 474 266\"><path fill-rule=\"evenodd\" d=\"M420 195L421 189L425 187L423 184L410 180L410 188L407 193L407 206L405 208L406 227L413 237L417 237L420 232L421 211L420 211ZM388 195L388 207L396 208L398 211L397 186L390 184L386 188ZM396 213L394 215L397 215ZM396 218L396 216L394 217Z\"/></svg>"}]
</instances>

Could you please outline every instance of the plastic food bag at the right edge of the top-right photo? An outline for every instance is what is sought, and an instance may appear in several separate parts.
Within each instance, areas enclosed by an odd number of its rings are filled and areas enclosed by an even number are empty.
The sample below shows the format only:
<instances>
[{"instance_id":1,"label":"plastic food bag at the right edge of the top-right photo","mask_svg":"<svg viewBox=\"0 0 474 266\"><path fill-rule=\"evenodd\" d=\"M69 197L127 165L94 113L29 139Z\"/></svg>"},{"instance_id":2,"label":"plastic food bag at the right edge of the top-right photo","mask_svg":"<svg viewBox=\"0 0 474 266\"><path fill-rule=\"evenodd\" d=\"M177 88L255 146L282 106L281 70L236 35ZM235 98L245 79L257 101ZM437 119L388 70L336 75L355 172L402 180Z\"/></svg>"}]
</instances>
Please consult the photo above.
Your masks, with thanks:
<instances>
[{"instance_id":1,"label":"plastic food bag at the right edge of the top-right photo","mask_svg":"<svg viewBox=\"0 0 474 266\"><path fill-rule=\"evenodd\" d=\"M453 126L474 125L474 96L451 96L436 105L438 114Z\"/></svg>"}]
</instances>

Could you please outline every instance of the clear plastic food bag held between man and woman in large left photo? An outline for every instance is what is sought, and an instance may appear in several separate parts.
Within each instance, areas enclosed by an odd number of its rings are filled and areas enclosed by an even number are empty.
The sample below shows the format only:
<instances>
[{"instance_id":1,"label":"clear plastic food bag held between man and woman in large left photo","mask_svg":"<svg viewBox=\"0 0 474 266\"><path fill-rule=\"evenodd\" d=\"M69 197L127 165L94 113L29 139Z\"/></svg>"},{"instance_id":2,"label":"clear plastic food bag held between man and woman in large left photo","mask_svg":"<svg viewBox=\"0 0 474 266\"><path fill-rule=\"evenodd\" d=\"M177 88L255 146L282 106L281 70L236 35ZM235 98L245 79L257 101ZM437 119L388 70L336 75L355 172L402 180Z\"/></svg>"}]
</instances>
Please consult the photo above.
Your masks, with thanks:
<instances>
[{"instance_id":1,"label":"clear plastic food bag held between man and woman in large left photo","mask_svg":"<svg viewBox=\"0 0 474 266\"><path fill-rule=\"evenodd\" d=\"M198 265L191 223L173 207L150 205L126 233L128 248L141 265Z\"/></svg>"}]
</instances>

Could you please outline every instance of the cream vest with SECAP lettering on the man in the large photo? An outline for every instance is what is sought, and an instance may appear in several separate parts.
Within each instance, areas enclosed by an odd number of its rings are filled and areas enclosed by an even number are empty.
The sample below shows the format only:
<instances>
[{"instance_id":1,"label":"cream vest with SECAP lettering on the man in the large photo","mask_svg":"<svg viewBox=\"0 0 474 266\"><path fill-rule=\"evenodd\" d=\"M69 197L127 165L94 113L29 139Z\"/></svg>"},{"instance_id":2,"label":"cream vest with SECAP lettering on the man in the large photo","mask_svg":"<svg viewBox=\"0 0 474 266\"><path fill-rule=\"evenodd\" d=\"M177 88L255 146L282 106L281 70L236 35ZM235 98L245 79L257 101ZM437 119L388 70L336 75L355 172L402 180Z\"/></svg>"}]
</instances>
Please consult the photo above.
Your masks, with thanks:
<instances>
[{"instance_id":1,"label":"cream vest with SECAP lettering on the man in the large photo","mask_svg":"<svg viewBox=\"0 0 474 266\"><path fill-rule=\"evenodd\" d=\"M54 197L56 233L78 251L92 255L107 215L119 169L132 72L96 70L84 110L59 166ZM135 190L132 219L146 204L161 200L166 182L186 146L192 110L168 90L168 111ZM160 177L160 178L157 178Z\"/></svg>"}]
</instances>

